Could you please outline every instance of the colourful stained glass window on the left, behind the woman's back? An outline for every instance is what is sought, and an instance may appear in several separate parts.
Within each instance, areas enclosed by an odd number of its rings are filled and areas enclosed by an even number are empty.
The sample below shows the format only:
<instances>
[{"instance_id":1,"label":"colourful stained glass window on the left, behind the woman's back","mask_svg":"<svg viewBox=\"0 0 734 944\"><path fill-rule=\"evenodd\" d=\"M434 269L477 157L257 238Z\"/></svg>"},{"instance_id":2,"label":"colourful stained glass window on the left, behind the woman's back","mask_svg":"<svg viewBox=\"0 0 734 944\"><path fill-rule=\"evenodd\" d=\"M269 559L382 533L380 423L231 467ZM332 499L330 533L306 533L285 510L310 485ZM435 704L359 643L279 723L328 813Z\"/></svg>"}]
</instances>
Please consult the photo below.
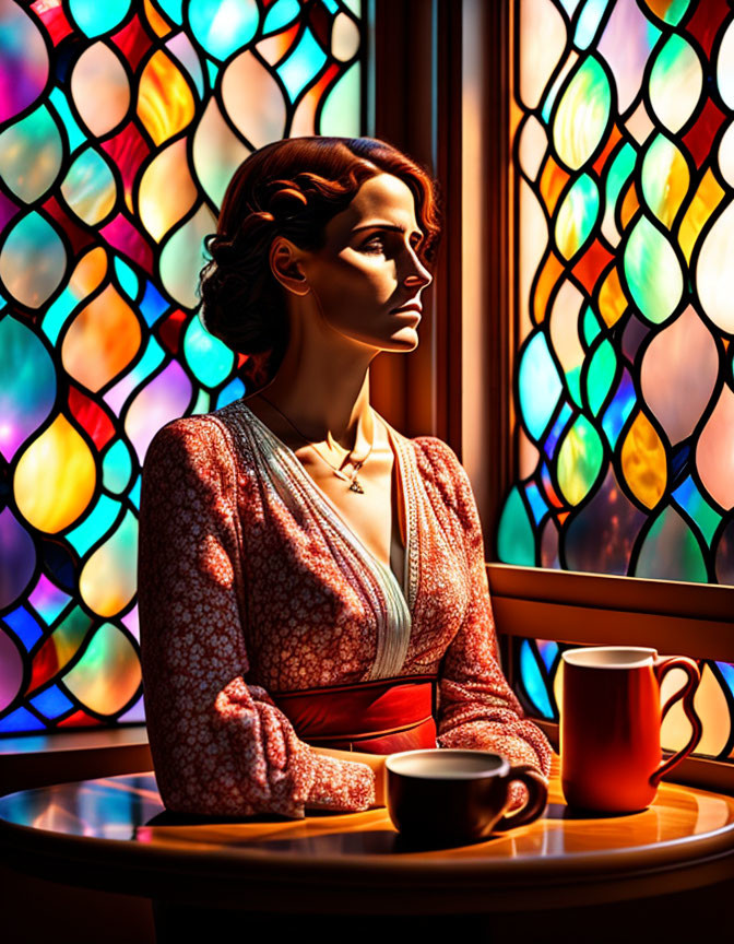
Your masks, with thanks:
<instances>
[{"instance_id":1,"label":"colourful stained glass window on the left, behind the woman's back","mask_svg":"<svg viewBox=\"0 0 734 944\"><path fill-rule=\"evenodd\" d=\"M197 275L253 149L363 129L360 0L0 4L0 733L143 720L140 469L242 396Z\"/></svg>"}]
</instances>

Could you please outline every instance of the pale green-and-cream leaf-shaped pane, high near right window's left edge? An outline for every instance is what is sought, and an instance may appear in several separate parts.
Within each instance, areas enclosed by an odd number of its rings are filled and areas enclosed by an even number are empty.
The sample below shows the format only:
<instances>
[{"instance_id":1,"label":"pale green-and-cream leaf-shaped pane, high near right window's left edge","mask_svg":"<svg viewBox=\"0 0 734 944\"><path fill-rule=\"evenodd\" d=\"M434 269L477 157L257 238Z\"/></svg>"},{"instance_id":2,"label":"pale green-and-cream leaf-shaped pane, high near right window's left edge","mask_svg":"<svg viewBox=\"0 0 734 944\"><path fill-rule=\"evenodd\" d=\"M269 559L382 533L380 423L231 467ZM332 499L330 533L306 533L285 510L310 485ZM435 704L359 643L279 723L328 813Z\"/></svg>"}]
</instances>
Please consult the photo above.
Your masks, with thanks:
<instances>
[{"instance_id":1,"label":"pale green-and-cream leaf-shaped pane, high near right window's left edge","mask_svg":"<svg viewBox=\"0 0 734 944\"><path fill-rule=\"evenodd\" d=\"M612 93L600 61L587 57L564 92L553 122L560 160L578 170L596 150L609 117Z\"/></svg>"}]
</instances>

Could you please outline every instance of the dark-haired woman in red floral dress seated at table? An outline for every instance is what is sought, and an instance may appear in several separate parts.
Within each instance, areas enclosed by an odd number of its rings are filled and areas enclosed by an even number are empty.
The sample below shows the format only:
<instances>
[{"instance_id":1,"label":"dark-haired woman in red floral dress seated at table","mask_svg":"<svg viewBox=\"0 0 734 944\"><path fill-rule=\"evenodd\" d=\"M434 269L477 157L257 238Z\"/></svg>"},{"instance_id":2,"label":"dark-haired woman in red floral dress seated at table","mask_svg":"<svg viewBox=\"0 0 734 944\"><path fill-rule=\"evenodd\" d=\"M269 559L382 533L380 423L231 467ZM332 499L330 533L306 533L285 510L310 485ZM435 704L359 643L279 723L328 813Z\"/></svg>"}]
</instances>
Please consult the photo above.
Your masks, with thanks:
<instances>
[{"instance_id":1,"label":"dark-haired woman in red floral dress seated at table","mask_svg":"<svg viewBox=\"0 0 734 944\"><path fill-rule=\"evenodd\" d=\"M382 805L384 755L436 744L549 772L499 668L466 473L369 404L372 358L417 346L438 235L431 180L376 140L279 141L229 185L203 316L253 355L258 391L164 427L143 475L141 652L169 810Z\"/></svg>"}]
</instances>

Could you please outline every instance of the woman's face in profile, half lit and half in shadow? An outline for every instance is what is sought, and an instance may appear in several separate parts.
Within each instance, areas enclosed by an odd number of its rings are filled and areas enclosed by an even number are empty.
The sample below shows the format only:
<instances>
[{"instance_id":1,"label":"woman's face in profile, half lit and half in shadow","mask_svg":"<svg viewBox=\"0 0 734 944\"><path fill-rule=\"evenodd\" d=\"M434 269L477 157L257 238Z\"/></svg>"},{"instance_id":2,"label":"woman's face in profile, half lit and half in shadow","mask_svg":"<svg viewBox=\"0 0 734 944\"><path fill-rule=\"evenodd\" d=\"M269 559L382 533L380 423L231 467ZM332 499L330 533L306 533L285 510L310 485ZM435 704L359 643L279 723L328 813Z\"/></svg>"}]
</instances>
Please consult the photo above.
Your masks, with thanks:
<instances>
[{"instance_id":1,"label":"woman's face in profile, half lit and half in shadow","mask_svg":"<svg viewBox=\"0 0 734 944\"><path fill-rule=\"evenodd\" d=\"M416 255L424 234L407 185L370 177L324 235L300 261L327 326L383 351L416 347L421 293L433 276Z\"/></svg>"}]
</instances>

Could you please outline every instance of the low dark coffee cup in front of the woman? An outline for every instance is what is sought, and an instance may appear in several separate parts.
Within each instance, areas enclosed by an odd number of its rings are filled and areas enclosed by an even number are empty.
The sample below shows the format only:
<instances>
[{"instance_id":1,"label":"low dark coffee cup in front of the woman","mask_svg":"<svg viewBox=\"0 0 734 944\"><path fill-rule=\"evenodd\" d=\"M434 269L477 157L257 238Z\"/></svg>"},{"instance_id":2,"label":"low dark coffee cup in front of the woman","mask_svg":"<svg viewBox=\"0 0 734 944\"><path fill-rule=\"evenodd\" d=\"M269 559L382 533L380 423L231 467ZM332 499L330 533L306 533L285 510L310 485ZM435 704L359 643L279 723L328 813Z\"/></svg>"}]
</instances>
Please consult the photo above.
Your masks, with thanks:
<instances>
[{"instance_id":1,"label":"low dark coffee cup in front of the woman","mask_svg":"<svg viewBox=\"0 0 734 944\"><path fill-rule=\"evenodd\" d=\"M547 784L526 764L512 767L489 751L403 751L386 759L388 813L405 837L461 842L524 826L543 813ZM510 783L528 788L524 806L507 813Z\"/></svg>"}]
</instances>

